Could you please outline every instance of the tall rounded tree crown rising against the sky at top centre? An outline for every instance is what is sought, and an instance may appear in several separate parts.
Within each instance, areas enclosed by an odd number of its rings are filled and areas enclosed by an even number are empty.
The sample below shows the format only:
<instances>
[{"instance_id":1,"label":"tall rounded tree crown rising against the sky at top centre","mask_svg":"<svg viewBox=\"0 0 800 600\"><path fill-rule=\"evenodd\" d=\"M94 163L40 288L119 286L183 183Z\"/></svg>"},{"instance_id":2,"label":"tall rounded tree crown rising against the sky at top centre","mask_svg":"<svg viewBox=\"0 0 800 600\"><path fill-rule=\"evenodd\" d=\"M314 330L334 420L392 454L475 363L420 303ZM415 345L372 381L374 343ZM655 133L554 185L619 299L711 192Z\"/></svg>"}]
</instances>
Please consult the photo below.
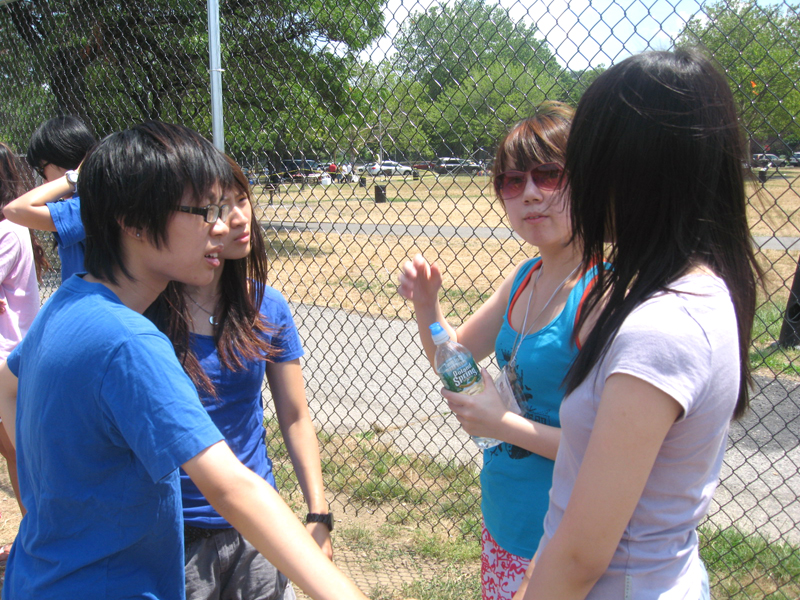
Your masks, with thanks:
<instances>
[{"instance_id":1,"label":"tall rounded tree crown rising against the sky at top centre","mask_svg":"<svg viewBox=\"0 0 800 600\"><path fill-rule=\"evenodd\" d=\"M432 101L448 86L465 83L476 67L498 62L545 66L556 75L561 68L536 32L535 25L514 22L488 0L440 2L403 23L393 63L399 73L422 83Z\"/></svg>"}]
</instances>

